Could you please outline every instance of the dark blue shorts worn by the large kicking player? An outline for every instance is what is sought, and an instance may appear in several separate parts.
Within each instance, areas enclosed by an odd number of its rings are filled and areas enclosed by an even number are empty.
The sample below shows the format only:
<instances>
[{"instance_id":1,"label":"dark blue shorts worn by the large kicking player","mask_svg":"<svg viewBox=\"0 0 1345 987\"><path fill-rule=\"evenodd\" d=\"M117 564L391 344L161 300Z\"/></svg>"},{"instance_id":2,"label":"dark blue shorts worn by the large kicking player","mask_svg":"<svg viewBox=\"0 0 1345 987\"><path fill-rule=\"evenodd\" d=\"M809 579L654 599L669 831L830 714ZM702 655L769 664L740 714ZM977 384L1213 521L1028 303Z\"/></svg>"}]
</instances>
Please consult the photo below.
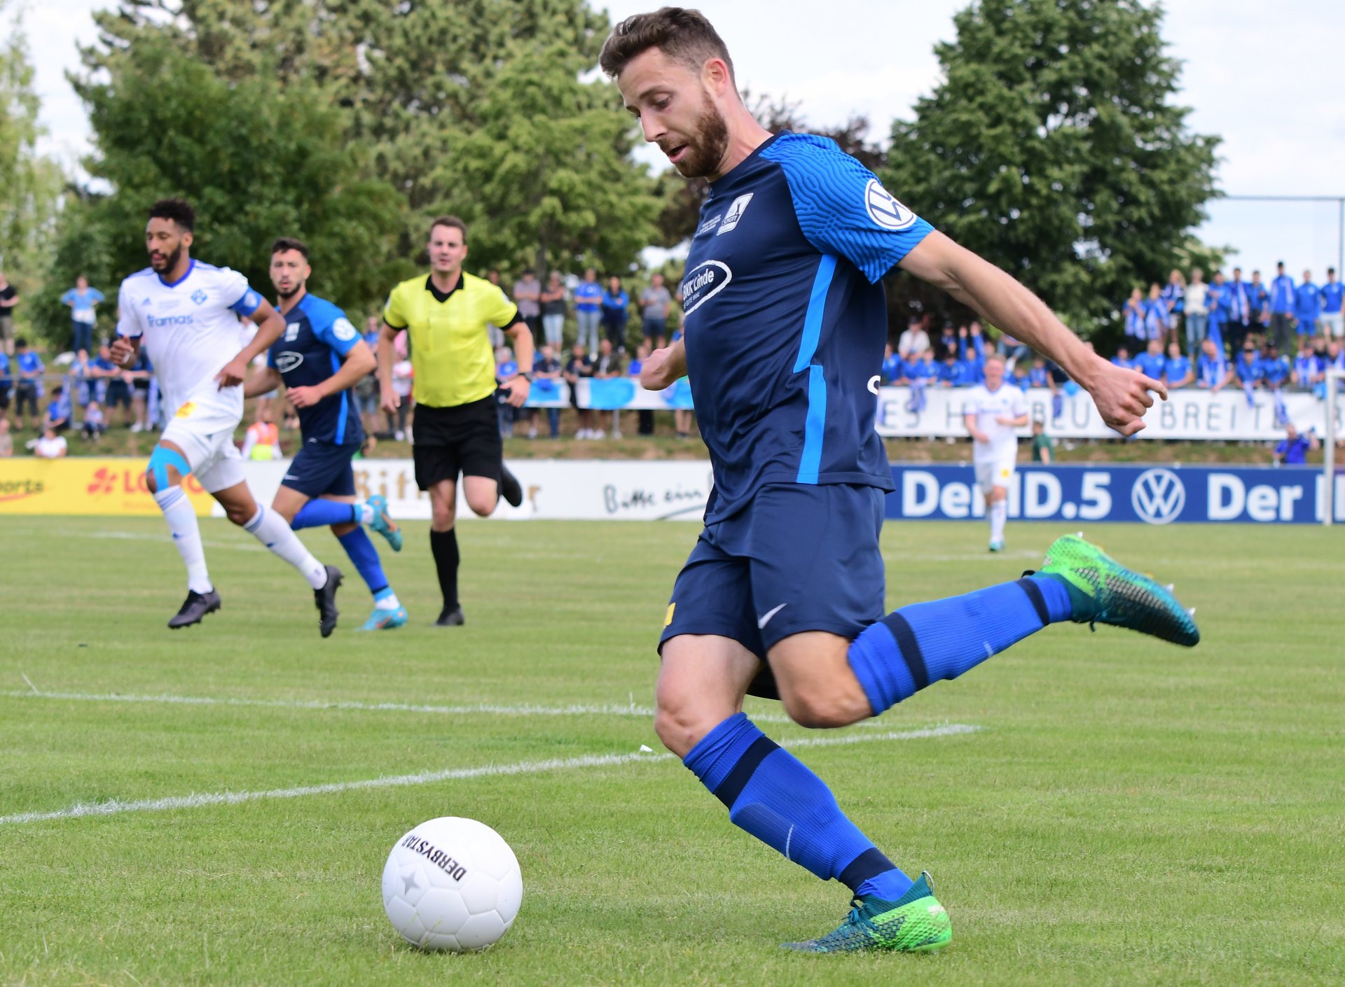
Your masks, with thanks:
<instances>
[{"instance_id":1,"label":"dark blue shorts worn by the large kicking player","mask_svg":"<svg viewBox=\"0 0 1345 987\"><path fill-rule=\"evenodd\" d=\"M659 648L678 635L732 637L763 662L783 637L857 637L884 610L884 492L771 484L707 524L672 586ZM769 666L748 690L777 698Z\"/></svg>"}]
</instances>

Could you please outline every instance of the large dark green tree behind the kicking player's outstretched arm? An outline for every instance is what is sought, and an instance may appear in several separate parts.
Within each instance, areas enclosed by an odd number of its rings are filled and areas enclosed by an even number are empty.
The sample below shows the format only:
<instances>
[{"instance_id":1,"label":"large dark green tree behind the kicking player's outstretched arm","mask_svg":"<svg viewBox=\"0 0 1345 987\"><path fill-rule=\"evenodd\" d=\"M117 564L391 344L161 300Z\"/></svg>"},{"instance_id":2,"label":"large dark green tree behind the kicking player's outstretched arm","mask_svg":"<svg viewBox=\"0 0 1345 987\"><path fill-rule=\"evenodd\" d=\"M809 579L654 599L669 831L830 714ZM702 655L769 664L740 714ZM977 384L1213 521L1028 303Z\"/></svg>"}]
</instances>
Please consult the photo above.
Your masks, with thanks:
<instances>
[{"instance_id":1,"label":"large dark green tree behind the kicking player's outstretched arm","mask_svg":"<svg viewBox=\"0 0 1345 987\"><path fill-rule=\"evenodd\" d=\"M892 128L884 183L1088 336L1177 266L1217 194L1219 137L1176 102L1158 5L976 0L954 24L935 47L944 82Z\"/></svg>"}]
</instances>

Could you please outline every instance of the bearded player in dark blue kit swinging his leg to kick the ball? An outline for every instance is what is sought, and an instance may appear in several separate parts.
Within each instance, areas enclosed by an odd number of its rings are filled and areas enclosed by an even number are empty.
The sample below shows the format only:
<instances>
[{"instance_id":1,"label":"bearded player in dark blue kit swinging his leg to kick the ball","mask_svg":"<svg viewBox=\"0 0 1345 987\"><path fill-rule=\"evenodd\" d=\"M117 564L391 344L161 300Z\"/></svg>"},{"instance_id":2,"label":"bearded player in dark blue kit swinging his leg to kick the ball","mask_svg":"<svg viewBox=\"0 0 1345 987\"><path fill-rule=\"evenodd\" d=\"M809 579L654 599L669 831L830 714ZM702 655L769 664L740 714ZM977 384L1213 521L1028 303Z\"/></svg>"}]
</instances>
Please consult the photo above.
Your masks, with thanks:
<instances>
[{"instance_id":1,"label":"bearded player in dark blue kit swinging his leg to kick the ball","mask_svg":"<svg viewBox=\"0 0 1345 987\"><path fill-rule=\"evenodd\" d=\"M831 791L742 713L779 698L803 726L874 717L1056 621L1114 624L1181 644L1198 632L1153 580L1081 538L1040 573L884 615L878 550L892 473L874 432L888 333L880 278L900 265L1059 363L1103 420L1143 428L1163 385L1115 367L1028 289L935 233L855 159L771 134L742 105L724 42L697 11L621 22L600 59L686 177L706 177L682 281L685 336L642 368L690 374L714 489L672 588L655 730L729 819L823 879L847 885L839 928L791 948L928 951L951 925Z\"/></svg>"}]
</instances>

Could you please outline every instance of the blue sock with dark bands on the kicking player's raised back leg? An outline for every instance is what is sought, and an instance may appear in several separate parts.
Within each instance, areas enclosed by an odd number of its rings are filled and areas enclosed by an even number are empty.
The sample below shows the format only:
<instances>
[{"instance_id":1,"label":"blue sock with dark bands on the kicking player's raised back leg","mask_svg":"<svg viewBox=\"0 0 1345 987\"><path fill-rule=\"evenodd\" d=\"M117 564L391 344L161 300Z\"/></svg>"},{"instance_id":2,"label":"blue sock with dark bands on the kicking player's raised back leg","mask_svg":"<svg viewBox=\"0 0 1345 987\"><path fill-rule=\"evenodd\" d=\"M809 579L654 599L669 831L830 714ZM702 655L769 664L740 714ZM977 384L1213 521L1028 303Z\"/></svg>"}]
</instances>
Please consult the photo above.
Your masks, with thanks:
<instances>
[{"instance_id":1,"label":"blue sock with dark bands on the kicking player's raised back leg","mask_svg":"<svg viewBox=\"0 0 1345 987\"><path fill-rule=\"evenodd\" d=\"M850 668L873 715L939 679L955 679L1046 624L1069 620L1069 592L1049 576L911 604L865 628Z\"/></svg>"}]
</instances>

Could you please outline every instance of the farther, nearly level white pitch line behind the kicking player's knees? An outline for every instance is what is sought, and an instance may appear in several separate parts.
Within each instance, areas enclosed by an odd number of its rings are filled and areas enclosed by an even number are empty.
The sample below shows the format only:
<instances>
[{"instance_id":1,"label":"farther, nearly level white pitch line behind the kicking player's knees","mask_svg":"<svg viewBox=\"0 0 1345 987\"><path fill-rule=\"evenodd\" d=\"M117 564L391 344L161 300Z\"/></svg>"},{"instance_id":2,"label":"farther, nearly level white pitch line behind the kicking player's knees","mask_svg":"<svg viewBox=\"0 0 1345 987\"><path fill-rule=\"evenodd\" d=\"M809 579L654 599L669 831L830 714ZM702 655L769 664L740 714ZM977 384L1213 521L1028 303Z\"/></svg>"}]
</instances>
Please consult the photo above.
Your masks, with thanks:
<instances>
[{"instance_id":1,"label":"farther, nearly level white pitch line behind the kicking player's knees","mask_svg":"<svg viewBox=\"0 0 1345 987\"><path fill-rule=\"evenodd\" d=\"M27 676L24 676L27 680ZM28 683L32 686L32 683ZM358 702L334 699L242 699L214 695L136 695L122 693L46 693L32 687L31 691L22 688L0 693L0 697L13 699L63 699L69 702L130 702L130 703L164 703L169 706L261 706L266 709L284 710L356 710L364 713L429 713L436 715L463 717L463 715L499 715L499 717L635 717L639 719L652 719L652 706L636 706L628 703L576 703L570 706L541 706L534 703L464 703L459 706L430 706L405 702ZM753 713L752 719L759 723L790 723L787 715L781 713ZM862 726L877 727L885 723L866 722Z\"/></svg>"}]
</instances>

